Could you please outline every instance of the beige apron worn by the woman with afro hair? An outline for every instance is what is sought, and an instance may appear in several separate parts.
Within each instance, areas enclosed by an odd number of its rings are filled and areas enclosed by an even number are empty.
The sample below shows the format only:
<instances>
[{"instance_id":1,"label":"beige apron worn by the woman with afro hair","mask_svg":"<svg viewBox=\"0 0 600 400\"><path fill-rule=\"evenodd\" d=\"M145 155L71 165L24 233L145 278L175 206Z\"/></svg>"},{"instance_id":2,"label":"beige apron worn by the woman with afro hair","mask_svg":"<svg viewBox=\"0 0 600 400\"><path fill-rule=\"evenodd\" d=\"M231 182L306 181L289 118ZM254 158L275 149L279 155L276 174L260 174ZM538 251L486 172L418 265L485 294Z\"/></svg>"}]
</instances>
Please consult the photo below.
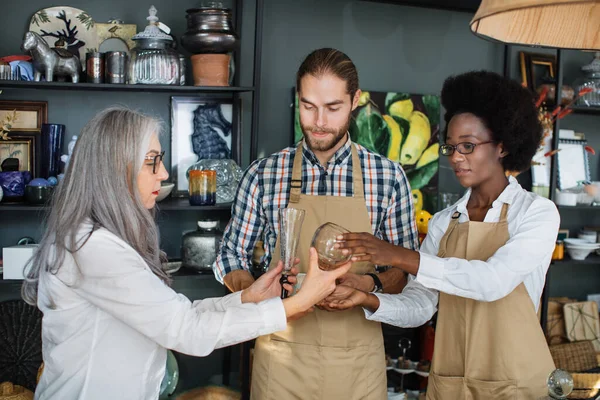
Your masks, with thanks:
<instances>
[{"instance_id":1,"label":"beige apron worn by the woman with afro hair","mask_svg":"<svg viewBox=\"0 0 600 400\"><path fill-rule=\"evenodd\" d=\"M452 216L439 257L487 260L509 239L502 206L497 223L458 223ZM546 398L554 362L533 302L521 283L508 296L483 302L440 293L427 399Z\"/></svg>"}]
</instances>

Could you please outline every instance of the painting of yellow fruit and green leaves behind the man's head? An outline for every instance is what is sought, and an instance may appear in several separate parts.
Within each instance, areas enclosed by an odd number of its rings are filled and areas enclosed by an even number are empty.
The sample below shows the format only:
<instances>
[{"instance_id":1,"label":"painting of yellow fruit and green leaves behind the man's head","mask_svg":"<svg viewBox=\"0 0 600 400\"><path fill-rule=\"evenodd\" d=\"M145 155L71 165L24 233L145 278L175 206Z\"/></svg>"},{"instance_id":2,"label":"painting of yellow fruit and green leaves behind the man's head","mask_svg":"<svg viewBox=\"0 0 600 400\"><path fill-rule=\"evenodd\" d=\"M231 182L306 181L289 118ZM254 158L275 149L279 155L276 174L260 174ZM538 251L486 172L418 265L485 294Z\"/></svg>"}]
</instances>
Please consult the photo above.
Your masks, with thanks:
<instances>
[{"instance_id":1,"label":"painting of yellow fruit and green leaves behind the man's head","mask_svg":"<svg viewBox=\"0 0 600 400\"><path fill-rule=\"evenodd\" d=\"M292 90L293 143L297 143L303 135L298 96ZM354 143L402 165L417 211L437 211L439 96L363 91L348 131Z\"/></svg>"}]
</instances>

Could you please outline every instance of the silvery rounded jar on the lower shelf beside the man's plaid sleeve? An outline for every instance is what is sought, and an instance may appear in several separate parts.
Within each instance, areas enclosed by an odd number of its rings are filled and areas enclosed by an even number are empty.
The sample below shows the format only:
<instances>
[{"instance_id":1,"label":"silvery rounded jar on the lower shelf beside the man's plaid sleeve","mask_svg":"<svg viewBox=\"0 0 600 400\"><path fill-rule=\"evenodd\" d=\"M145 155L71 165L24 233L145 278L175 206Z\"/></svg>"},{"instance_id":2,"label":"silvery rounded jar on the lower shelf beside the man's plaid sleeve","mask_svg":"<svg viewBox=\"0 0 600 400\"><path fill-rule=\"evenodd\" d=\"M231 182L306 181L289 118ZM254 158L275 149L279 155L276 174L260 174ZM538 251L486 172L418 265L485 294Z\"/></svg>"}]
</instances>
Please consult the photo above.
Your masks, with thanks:
<instances>
[{"instance_id":1,"label":"silvery rounded jar on the lower shelf beside the man's plaid sleeve","mask_svg":"<svg viewBox=\"0 0 600 400\"><path fill-rule=\"evenodd\" d=\"M198 229L183 235L181 265L198 272L212 271L223 233L215 220L198 221Z\"/></svg>"}]
</instances>

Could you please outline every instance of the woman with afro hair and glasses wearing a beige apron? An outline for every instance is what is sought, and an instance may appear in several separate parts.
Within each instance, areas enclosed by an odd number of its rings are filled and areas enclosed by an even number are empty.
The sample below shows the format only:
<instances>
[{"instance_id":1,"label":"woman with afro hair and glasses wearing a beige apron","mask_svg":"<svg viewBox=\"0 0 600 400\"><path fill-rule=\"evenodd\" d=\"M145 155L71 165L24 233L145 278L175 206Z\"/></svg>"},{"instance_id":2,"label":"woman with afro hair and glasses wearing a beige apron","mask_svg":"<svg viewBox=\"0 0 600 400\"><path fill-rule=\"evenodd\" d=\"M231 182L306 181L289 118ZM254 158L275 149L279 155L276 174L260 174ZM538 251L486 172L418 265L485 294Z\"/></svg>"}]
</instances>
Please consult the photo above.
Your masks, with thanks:
<instances>
[{"instance_id":1,"label":"woman with afro hair and glasses wearing a beige apron","mask_svg":"<svg viewBox=\"0 0 600 400\"><path fill-rule=\"evenodd\" d=\"M409 283L398 295L338 285L322 306L362 306L368 319L410 327L433 316L439 294L427 398L542 398L554 363L536 311L560 218L552 202L507 178L529 167L540 143L534 97L477 71L448 78L442 105L440 153L466 194L431 219L420 251L344 235L339 246L353 260L401 268Z\"/></svg>"}]
</instances>

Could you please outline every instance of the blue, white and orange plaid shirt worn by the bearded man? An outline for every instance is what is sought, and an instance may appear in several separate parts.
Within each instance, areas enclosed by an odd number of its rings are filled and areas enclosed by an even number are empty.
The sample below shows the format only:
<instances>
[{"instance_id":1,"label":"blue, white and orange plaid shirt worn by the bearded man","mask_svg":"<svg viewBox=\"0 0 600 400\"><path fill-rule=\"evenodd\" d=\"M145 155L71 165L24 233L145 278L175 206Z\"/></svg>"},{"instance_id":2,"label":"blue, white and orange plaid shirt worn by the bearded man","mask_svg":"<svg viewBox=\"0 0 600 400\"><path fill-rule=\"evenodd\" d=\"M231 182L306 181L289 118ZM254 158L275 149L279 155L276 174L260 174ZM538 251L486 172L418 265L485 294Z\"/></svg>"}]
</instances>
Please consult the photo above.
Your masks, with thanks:
<instances>
[{"instance_id":1,"label":"blue, white and orange plaid shirt worn by the bearded man","mask_svg":"<svg viewBox=\"0 0 600 400\"><path fill-rule=\"evenodd\" d=\"M399 164L356 145L363 173L365 201L373 234L409 249L418 248L418 234L408 180ZM348 140L323 167L304 143L302 194L352 196L352 152ZM249 270L254 245L264 235L265 256L271 261L279 228L278 210L288 205L296 147L288 147L257 160L244 172L225 229L217 261L216 278Z\"/></svg>"}]
</instances>

